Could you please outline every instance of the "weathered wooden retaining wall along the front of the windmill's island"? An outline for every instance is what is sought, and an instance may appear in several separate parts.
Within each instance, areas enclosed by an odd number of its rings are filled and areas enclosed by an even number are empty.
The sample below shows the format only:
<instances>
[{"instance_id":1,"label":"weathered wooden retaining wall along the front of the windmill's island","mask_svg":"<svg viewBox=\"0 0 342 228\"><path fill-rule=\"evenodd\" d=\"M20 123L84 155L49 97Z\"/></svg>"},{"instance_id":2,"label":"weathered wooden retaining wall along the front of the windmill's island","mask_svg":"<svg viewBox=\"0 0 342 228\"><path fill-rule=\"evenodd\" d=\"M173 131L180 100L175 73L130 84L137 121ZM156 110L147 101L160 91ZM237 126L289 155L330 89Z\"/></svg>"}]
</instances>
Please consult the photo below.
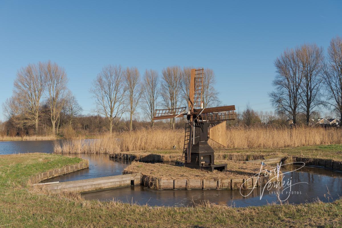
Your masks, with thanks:
<instances>
[{"instance_id":1,"label":"weathered wooden retaining wall along the front of the windmill's island","mask_svg":"<svg viewBox=\"0 0 342 228\"><path fill-rule=\"evenodd\" d=\"M270 179L269 176L262 176L246 179L161 179L152 176L142 175L141 184L153 189L241 189L264 186ZM247 180L247 181L246 181ZM245 182L246 181L246 182Z\"/></svg>"}]
</instances>

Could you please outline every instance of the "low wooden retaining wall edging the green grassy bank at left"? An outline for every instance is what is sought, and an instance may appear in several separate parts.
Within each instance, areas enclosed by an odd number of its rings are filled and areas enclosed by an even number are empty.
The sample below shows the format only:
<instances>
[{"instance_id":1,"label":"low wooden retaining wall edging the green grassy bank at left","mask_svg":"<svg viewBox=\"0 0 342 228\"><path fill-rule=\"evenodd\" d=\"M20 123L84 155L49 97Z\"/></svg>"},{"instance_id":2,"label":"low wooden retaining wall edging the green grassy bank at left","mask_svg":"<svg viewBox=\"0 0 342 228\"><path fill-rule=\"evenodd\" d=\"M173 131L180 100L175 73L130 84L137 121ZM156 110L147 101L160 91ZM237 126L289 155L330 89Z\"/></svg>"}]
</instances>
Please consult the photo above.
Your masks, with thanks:
<instances>
[{"instance_id":1,"label":"low wooden retaining wall edging the green grassy bank at left","mask_svg":"<svg viewBox=\"0 0 342 228\"><path fill-rule=\"evenodd\" d=\"M86 168L89 168L89 161L86 159L82 159L81 162L75 165L67 165L59 169L53 169L46 172L42 172L37 174L36 176L32 176L29 180L31 184L38 184L41 181L45 181L56 176L65 175Z\"/></svg>"}]
</instances>

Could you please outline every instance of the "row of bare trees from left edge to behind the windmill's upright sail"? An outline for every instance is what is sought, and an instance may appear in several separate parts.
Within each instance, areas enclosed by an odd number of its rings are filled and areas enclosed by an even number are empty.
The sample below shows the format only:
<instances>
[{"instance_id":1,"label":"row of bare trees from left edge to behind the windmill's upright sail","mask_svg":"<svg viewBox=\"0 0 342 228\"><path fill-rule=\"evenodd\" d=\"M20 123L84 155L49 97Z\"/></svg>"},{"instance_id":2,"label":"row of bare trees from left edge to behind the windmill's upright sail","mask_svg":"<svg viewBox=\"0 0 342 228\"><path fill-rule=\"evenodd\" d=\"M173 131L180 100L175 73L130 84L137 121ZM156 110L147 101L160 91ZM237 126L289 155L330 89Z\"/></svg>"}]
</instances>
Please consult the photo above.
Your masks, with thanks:
<instances>
[{"instance_id":1,"label":"row of bare trees from left edge to behind the windmill's upright sail","mask_svg":"<svg viewBox=\"0 0 342 228\"><path fill-rule=\"evenodd\" d=\"M187 105L192 68L166 67L161 75L156 70L147 69L141 75L136 67L106 65L89 89L95 101L91 110L94 115L82 116L82 107L67 87L68 76L63 67L50 60L28 64L17 71L13 95L2 104L6 117L2 132L12 135L60 134L61 128L64 132L92 128L98 132L106 129L111 133L113 128L124 128L126 120L122 116L125 113L128 114L129 130L133 129L133 123L146 126L134 122L134 118L153 127L157 106L159 109L174 109ZM214 88L214 71L205 69L205 75L203 106L217 105L220 101ZM143 120L137 115L138 108ZM159 125L163 124L166 123ZM175 128L174 119L170 120L169 127Z\"/></svg>"}]
</instances>

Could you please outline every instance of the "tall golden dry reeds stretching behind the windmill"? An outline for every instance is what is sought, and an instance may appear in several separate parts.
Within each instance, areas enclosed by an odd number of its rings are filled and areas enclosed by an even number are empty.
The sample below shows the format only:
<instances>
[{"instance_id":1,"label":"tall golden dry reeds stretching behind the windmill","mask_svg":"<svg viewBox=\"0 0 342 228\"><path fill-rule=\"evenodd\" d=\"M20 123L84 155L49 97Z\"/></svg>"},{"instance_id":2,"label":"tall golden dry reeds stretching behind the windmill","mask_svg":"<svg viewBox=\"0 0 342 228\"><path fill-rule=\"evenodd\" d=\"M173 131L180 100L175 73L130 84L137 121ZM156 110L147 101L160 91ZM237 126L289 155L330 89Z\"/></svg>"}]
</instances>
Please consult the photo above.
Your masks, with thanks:
<instances>
[{"instance_id":1,"label":"tall golden dry reeds stretching behind the windmill","mask_svg":"<svg viewBox=\"0 0 342 228\"><path fill-rule=\"evenodd\" d=\"M141 129L115 132L97 139L75 139L62 146L55 144L55 153L120 153L142 150L182 149L184 130ZM209 140L213 148L223 148ZM227 148L284 148L342 144L342 129L314 127L255 127L227 129Z\"/></svg>"}]
</instances>

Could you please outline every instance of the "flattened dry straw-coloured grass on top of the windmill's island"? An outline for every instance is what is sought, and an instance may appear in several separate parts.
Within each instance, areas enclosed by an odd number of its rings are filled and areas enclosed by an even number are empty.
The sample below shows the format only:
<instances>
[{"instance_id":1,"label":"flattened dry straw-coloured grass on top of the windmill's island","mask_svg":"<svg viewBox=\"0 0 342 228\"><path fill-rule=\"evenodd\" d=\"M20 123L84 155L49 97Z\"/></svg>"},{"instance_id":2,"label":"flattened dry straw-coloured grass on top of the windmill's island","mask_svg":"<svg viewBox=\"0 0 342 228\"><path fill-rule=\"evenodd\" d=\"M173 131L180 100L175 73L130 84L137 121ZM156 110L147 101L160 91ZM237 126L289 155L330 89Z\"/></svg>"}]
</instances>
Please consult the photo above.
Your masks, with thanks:
<instances>
[{"instance_id":1,"label":"flattened dry straw-coloured grass on top of the windmill's island","mask_svg":"<svg viewBox=\"0 0 342 228\"><path fill-rule=\"evenodd\" d=\"M227 161L225 161L227 163ZM171 166L162 163L144 163L133 161L124 169L123 173L141 173L162 179L243 179L247 173L259 172L260 165L243 162L229 162L228 169L232 172L208 172L205 170L190 169L187 167ZM236 171L236 172L234 172ZM239 174L246 173L245 175Z\"/></svg>"}]
</instances>

